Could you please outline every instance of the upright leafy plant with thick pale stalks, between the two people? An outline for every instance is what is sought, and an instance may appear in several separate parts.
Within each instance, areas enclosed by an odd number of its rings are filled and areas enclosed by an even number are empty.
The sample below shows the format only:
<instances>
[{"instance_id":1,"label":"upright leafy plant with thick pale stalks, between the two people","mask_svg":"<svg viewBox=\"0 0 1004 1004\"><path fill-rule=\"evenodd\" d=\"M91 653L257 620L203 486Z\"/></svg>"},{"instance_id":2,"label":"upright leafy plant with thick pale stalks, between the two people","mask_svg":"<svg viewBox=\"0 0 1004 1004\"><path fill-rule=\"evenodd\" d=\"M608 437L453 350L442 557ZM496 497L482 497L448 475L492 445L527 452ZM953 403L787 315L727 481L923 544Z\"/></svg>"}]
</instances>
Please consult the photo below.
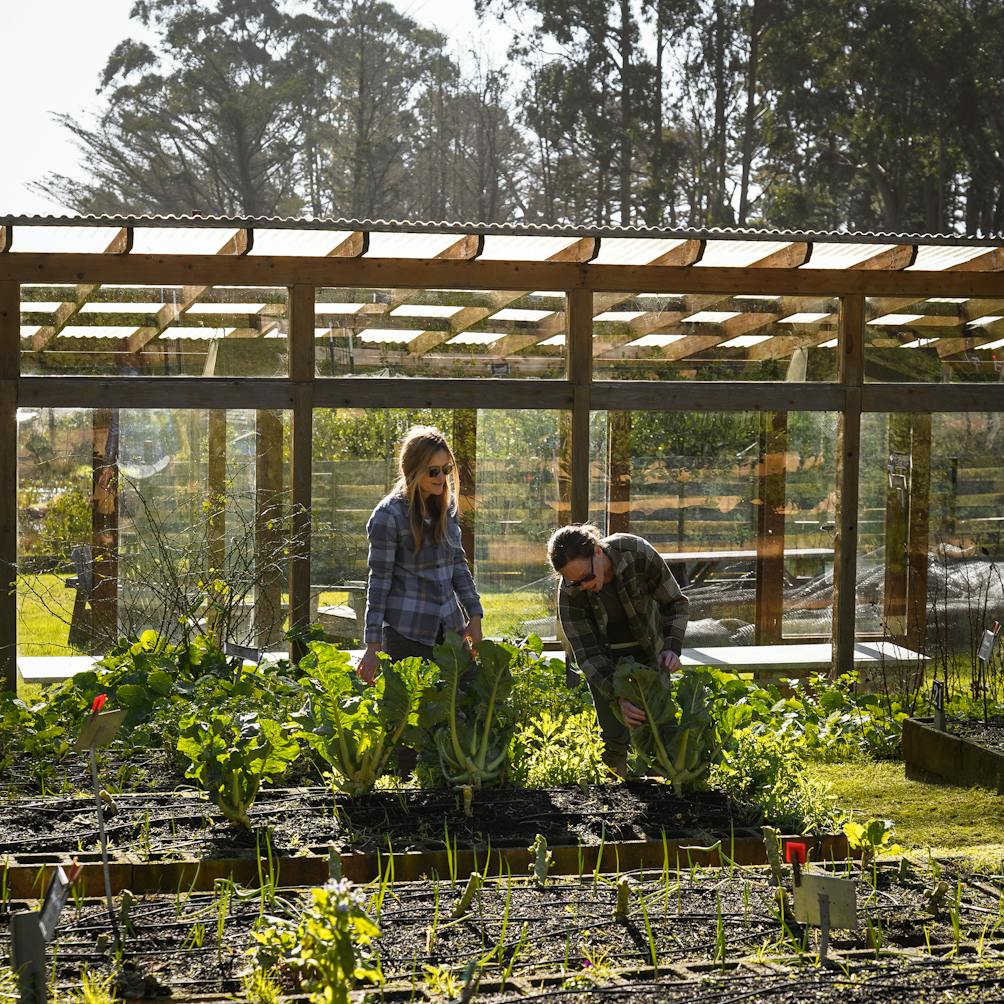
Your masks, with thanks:
<instances>
[{"instance_id":1,"label":"upright leafy plant with thick pale stalks, between the two people","mask_svg":"<svg viewBox=\"0 0 1004 1004\"><path fill-rule=\"evenodd\" d=\"M420 724L450 784L480 788L505 780L516 712L509 702L517 650L478 645L477 658L454 633L433 650L440 679L423 705Z\"/></svg>"}]
</instances>

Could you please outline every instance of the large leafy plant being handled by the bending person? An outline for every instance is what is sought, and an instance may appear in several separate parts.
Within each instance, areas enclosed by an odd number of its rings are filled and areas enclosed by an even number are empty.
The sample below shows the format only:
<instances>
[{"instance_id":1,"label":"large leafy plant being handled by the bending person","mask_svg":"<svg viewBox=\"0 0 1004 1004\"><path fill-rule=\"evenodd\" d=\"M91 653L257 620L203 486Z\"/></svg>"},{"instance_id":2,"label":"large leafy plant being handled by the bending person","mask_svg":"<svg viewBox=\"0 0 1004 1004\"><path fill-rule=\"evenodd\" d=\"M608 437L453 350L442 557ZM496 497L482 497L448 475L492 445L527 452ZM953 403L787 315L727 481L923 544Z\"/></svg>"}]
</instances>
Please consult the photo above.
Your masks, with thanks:
<instances>
[{"instance_id":1,"label":"large leafy plant being handled by the bending person","mask_svg":"<svg viewBox=\"0 0 1004 1004\"><path fill-rule=\"evenodd\" d=\"M634 659L620 660L613 673L614 696L645 712L632 743L678 795L703 781L721 756L709 683L701 671L669 674ZM614 711L619 717L616 704Z\"/></svg>"}]
</instances>

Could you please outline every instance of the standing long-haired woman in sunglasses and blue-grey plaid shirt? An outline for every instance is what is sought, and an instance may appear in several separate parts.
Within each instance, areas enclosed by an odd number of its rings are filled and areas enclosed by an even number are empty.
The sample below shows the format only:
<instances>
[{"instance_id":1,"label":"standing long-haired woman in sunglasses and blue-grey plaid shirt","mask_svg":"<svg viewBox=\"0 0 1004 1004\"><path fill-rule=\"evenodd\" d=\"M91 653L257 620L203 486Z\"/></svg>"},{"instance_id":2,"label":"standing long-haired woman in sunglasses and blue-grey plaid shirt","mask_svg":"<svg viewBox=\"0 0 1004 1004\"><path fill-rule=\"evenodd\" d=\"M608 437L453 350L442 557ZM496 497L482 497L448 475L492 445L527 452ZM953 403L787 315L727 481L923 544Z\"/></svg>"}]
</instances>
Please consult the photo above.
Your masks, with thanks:
<instances>
[{"instance_id":1,"label":"standing long-haired woman in sunglasses and blue-grey plaid shirt","mask_svg":"<svg viewBox=\"0 0 1004 1004\"><path fill-rule=\"evenodd\" d=\"M399 478L366 523L366 612L358 674L372 683L379 654L431 659L448 631L481 641L481 597L461 546L457 463L431 426L408 431Z\"/></svg>"}]
</instances>

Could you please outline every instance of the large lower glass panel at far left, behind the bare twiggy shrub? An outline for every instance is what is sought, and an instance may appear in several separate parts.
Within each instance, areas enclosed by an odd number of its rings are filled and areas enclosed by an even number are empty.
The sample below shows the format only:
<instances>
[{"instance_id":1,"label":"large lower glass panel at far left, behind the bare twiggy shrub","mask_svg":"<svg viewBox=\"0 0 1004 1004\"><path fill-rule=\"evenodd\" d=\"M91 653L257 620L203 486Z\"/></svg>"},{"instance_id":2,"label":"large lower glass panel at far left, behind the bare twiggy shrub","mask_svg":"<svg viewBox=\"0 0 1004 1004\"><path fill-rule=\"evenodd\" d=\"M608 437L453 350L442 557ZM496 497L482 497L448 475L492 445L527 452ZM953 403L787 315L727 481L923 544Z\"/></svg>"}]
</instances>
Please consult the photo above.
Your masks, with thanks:
<instances>
[{"instance_id":1,"label":"large lower glass panel at far left, behind the bare twiggy shrub","mask_svg":"<svg viewBox=\"0 0 1004 1004\"><path fill-rule=\"evenodd\" d=\"M18 413L18 652L120 635L281 648L289 415Z\"/></svg>"}]
</instances>

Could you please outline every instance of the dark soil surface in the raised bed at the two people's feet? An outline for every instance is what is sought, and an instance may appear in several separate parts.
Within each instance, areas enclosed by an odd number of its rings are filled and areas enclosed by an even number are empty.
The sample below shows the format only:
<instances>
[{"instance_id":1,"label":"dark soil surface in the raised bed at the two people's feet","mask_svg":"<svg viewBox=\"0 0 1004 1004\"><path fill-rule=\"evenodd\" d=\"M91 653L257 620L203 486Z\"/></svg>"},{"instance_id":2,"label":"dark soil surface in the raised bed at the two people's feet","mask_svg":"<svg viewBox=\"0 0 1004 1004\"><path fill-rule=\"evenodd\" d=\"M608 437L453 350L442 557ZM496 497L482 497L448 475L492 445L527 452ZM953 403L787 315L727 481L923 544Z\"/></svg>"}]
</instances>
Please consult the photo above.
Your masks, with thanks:
<instances>
[{"instance_id":1,"label":"dark soil surface in the raised bed at the two people's feet","mask_svg":"<svg viewBox=\"0 0 1004 1004\"><path fill-rule=\"evenodd\" d=\"M744 825L724 796L677 798L655 782L585 788L497 788L475 792L471 815L459 792L403 789L354 798L326 788L274 788L252 808L260 834L271 831L280 854L304 847L339 851L441 849L451 845L526 847L537 833L548 844L687 838L711 843ZM204 795L192 791L114 796L106 820L109 846L141 855L251 854L256 835L231 826ZM97 847L92 797L15 799L0 803L0 853L90 850Z\"/></svg>"}]
</instances>

